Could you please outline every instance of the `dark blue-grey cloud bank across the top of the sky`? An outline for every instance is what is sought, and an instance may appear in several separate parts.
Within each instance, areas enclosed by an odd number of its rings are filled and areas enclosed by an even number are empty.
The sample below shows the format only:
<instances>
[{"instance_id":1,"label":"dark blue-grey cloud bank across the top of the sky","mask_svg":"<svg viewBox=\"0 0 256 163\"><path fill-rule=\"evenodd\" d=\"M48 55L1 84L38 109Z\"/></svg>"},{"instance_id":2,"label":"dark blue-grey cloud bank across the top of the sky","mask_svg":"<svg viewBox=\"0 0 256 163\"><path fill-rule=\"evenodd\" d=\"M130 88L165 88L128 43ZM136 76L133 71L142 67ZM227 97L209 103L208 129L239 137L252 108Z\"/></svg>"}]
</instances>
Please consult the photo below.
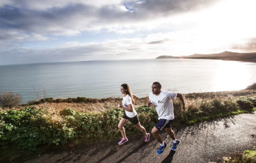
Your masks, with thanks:
<instances>
[{"instance_id":1,"label":"dark blue-grey cloud bank across the top of the sky","mask_svg":"<svg viewBox=\"0 0 256 163\"><path fill-rule=\"evenodd\" d=\"M159 17L199 9L211 3L208 0L117 0L108 3L103 0L8 0L0 2L0 22L2 30L16 30L27 35L37 33L48 37L80 35L82 31L104 29L133 33L147 29L143 26Z\"/></svg>"}]
</instances>

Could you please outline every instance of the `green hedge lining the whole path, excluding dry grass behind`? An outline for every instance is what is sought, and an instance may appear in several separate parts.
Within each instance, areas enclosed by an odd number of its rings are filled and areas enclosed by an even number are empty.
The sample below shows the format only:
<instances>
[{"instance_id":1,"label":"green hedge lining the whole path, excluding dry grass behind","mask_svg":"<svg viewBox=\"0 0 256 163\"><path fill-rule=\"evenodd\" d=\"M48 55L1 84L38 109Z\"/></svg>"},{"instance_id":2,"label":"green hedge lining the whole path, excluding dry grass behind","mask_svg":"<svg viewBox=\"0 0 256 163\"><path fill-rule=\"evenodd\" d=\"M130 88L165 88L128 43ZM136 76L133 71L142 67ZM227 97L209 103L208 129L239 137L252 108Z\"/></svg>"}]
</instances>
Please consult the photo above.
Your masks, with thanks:
<instances>
[{"instance_id":1,"label":"green hedge lining the whole path, excluding dry grass behind","mask_svg":"<svg viewBox=\"0 0 256 163\"><path fill-rule=\"evenodd\" d=\"M256 107L255 97L240 97L226 100L198 100L187 105L186 111L180 111L181 104L174 102L174 124L191 124L202 120L202 117L230 113L238 110L251 110ZM150 132L158 121L154 107L140 106L136 108L139 120ZM17 150L36 150L41 145L64 145L72 141L98 141L121 137L117 128L123 115L120 108L112 108L104 112L79 113L66 108L60 112L61 123L49 122L45 110L26 107L20 110L0 112L0 148L13 147ZM126 134L140 133L134 125L128 122Z\"/></svg>"}]
</instances>

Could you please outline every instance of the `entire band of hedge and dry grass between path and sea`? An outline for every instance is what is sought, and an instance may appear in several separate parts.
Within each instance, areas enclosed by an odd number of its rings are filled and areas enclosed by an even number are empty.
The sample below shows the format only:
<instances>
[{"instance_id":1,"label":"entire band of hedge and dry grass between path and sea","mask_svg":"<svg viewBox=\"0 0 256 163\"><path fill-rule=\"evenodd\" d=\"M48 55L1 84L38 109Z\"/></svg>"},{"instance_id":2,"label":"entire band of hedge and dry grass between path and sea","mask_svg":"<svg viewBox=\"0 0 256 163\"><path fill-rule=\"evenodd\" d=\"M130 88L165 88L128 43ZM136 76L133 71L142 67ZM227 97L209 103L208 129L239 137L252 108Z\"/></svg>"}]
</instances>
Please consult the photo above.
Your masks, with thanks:
<instances>
[{"instance_id":1,"label":"entire band of hedge and dry grass between path and sea","mask_svg":"<svg viewBox=\"0 0 256 163\"><path fill-rule=\"evenodd\" d=\"M241 91L184 94L186 111L174 100L173 127L203 120L254 111L256 83ZM158 121L154 107L147 107L148 97L138 98L135 109L141 124L150 131ZM117 128L123 110L117 107L121 98L42 99L28 106L0 110L1 156L10 151L29 152L47 146L73 146L121 137ZM130 122L126 134L141 134ZM13 154L13 153L11 153Z\"/></svg>"}]
</instances>

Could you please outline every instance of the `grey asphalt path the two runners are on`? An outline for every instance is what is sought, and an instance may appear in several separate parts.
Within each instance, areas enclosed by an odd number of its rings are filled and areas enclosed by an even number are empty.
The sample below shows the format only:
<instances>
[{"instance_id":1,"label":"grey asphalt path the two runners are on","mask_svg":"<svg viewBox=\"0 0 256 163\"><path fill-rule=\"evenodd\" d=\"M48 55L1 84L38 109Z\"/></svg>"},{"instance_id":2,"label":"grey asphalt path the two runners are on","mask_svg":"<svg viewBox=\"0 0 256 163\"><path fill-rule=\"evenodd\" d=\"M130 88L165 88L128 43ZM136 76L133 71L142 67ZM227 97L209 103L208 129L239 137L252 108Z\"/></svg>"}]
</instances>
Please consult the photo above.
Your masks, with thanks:
<instances>
[{"instance_id":1,"label":"grey asphalt path the two runners are on","mask_svg":"<svg viewBox=\"0 0 256 163\"><path fill-rule=\"evenodd\" d=\"M243 151L256 145L256 112L175 128L181 140L176 151L171 139L163 132L167 148L157 155L159 144L151 135L145 143L143 135L95 144L79 144L70 148L55 148L12 160L13 163L208 163L222 162L222 156Z\"/></svg>"}]
</instances>

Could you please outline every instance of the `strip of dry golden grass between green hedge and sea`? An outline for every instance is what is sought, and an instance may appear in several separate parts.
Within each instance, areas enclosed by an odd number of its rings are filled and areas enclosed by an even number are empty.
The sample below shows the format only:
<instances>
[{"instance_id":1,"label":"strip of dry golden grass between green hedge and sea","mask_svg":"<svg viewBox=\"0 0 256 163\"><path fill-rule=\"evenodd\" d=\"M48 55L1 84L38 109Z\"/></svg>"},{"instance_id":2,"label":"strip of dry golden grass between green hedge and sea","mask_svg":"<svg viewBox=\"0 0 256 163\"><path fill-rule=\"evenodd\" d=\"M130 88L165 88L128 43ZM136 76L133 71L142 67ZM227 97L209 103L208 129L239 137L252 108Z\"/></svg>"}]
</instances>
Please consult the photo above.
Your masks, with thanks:
<instances>
[{"instance_id":1,"label":"strip of dry golden grass between green hedge and sea","mask_svg":"<svg viewBox=\"0 0 256 163\"><path fill-rule=\"evenodd\" d=\"M223 91L223 92L208 92L208 93L189 93L183 94L186 102L186 107L192 109L193 112L200 109L201 104L207 104L212 99L237 98L239 96L256 96L256 90L241 90L241 91ZM65 100L64 100L65 101ZM137 98L135 101L135 107L143 106L148 102L148 97ZM122 98L102 98L102 99L90 99L86 103L75 102L45 102L42 104L33 104L37 108L47 110L49 115L59 115L59 112L63 109L70 108L78 112L102 112L113 107L117 107L118 103L122 103ZM24 106L13 107L12 109L19 110ZM4 111L5 108L0 107L0 111Z\"/></svg>"}]
</instances>

